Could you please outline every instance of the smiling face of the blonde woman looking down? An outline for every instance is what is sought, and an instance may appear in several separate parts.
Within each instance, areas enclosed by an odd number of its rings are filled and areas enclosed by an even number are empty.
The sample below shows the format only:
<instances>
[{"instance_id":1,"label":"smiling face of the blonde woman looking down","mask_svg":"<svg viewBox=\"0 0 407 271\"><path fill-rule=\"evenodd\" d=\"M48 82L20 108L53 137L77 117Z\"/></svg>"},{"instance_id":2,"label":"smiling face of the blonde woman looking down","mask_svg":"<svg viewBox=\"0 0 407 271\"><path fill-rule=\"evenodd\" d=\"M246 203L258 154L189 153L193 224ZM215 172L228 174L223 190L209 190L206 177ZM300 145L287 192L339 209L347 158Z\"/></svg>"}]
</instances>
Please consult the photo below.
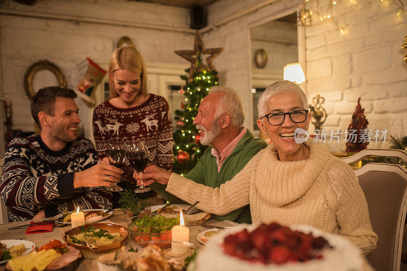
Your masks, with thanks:
<instances>
[{"instance_id":1,"label":"smiling face of the blonde woman looking down","mask_svg":"<svg viewBox=\"0 0 407 271\"><path fill-rule=\"evenodd\" d=\"M128 70L117 70L112 74L114 89L126 104L133 103L140 91L141 76Z\"/></svg>"}]
</instances>

